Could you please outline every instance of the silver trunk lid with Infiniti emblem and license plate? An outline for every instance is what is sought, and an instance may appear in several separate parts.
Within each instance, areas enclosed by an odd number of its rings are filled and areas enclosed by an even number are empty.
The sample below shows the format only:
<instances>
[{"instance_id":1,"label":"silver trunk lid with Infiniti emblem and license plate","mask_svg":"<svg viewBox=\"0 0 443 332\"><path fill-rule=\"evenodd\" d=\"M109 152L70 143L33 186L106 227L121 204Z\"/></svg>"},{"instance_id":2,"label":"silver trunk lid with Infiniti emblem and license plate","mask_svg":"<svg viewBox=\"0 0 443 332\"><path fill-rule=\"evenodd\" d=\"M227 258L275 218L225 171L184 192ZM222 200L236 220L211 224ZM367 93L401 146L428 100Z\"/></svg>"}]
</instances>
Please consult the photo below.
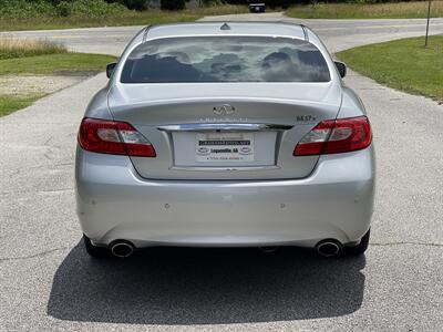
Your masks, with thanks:
<instances>
[{"instance_id":1,"label":"silver trunk lid with Infiniti emblem and license plate","mask_svg":"<svg viewBox=\"0 0 443 332\"><path fill-rule=\"evenodd\" d=\"M306 177L318 156L293 157L293 148L340 104L333 82L117 84L109 94L114 120L156 149L156 158L132 157L151 179Z\"/></svg>"}]
</instances>

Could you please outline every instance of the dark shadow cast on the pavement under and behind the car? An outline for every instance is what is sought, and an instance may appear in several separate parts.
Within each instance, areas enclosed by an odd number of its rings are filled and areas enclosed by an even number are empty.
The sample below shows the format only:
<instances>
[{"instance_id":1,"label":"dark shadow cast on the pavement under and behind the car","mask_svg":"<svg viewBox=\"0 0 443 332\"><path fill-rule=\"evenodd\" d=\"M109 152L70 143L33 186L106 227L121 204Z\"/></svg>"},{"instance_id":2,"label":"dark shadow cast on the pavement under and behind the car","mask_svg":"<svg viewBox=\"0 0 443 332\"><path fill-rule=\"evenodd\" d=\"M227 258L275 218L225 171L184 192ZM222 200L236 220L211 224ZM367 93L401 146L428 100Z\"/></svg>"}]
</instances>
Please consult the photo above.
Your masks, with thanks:
<instances>
[{"instance_id":1,"label":"dark shadow cast on the pavement under and behind the car","mask_svg":"<svg viewBox=\"0 0 443 332\"><path fill-rule=\"evenodd\" d=\"M296 248L151 248L94 260L79 243L55 272L48 314L164 325L338 317L361 307L364 264L364 256L323 259Z\"/></svg>"}]
</instances>

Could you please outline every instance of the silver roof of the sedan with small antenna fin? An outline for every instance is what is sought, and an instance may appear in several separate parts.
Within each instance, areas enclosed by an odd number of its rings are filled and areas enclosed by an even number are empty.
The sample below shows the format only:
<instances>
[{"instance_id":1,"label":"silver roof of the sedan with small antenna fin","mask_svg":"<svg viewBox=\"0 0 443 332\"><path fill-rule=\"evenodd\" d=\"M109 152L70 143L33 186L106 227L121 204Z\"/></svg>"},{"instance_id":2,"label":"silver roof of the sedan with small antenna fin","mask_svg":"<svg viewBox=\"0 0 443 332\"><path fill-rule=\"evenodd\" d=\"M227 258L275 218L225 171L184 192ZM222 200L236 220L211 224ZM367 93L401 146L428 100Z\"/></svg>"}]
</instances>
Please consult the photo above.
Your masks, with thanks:
<instances>
[{"instance_id":1,"label":"silver roof of the sedan with small antenna fin","mask_svg":"<svg viewBox=\"0 0 443 332\"><path fill-rule=\"evenodd\" d=\"M270 35L309 40L315 34L305 25L282 22L194 22L147 27L143 42L172 37ZM317 37L315 37L317 39Z\"/></svg>"}]
</instances>

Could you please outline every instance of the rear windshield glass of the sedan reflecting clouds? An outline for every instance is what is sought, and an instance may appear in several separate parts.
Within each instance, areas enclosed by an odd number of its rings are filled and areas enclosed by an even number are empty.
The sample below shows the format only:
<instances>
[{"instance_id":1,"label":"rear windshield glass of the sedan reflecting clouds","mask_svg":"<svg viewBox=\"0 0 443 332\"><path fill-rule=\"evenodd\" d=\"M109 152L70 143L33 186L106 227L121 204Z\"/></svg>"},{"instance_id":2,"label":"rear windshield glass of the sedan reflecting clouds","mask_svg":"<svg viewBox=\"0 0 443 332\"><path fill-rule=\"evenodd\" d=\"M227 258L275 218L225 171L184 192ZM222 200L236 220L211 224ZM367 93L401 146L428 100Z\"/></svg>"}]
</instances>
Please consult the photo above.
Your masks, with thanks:
<instances>
[{"instance_id":1,"label":"rear windshield glass of the sedan reflecting clouds","mask_svg":"<svg viewBox=\"0 0 443 332\"><path fill-rule=\"evenodd\" d=\"M328 65L311 43L267 37L158 39L138 45L122 83L328 82Z\"/></svg>"}]
</instances>

